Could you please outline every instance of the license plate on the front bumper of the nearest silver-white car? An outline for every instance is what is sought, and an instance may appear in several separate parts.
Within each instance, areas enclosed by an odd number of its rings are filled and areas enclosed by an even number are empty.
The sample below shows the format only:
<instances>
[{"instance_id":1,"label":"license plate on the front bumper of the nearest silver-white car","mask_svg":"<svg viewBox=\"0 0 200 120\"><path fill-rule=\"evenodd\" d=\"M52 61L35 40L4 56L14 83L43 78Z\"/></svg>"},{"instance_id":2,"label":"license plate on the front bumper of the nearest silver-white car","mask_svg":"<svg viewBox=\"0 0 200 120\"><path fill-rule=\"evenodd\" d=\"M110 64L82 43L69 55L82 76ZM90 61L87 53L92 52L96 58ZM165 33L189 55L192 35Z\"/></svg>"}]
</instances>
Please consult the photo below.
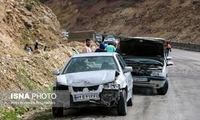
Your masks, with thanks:
<instances>
[{"instance_id":1,"label":"license plate on the front bumper of the nearest silver-white car","mask_svg":"<svg viewBox=\"0 0 200 120\"><path fill-rule=\"evenodd\" d=\"M99 100L99 93L75 94L73 95L74 102Z\"/></svg>"}]
</instances>

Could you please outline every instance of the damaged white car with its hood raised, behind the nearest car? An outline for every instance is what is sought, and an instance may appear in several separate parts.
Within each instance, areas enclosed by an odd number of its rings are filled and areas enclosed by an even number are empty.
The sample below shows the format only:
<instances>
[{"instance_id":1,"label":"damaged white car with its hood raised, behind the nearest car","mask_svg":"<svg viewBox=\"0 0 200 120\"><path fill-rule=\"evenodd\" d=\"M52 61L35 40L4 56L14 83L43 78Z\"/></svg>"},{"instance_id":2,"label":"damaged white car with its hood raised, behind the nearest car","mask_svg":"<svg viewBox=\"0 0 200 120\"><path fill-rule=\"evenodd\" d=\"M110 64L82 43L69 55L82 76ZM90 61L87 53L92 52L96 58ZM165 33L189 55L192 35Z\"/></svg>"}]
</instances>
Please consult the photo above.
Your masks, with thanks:
<instances>
[{"instance_id":1,"label":"damaged white car with its hood raised, behind the nearest car","mask_svg":"<svg viewBox=\"0 0 200 120\"><path fill-rule=\"evenodd\" d=\"M163 38L130 37L120 41L120 52L133 67L134 86L153 87L159 95L167 93L168 66L173 62L166 56L164 46Z\"/></svg>"}]
</instances>

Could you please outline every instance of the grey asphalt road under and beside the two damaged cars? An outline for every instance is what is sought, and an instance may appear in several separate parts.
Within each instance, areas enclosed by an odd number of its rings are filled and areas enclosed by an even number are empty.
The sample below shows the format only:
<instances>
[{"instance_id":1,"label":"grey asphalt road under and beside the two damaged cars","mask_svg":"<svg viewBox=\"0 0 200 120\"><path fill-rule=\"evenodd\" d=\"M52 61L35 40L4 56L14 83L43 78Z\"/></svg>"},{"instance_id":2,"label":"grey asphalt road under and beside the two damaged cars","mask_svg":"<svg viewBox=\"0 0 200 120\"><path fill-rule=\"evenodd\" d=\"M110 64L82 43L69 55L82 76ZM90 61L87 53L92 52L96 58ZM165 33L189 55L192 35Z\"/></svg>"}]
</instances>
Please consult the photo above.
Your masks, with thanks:
<instances>
[{"instance_id":1,"label":"grey asphalt road under and beside the two damaged cars","mask_svg":"<svg viewBox=\"0 0 200 120\"><path fill-rule=\"evenodd\" d=\"M174 66L169 68L169 91L156 95L149 88L137 88L132 107L124 117L113 109L70 110L63 120L200 120L200 53L173 49ZM29 119L52 120L50 110Z\"/></svg>"}]
</instances>

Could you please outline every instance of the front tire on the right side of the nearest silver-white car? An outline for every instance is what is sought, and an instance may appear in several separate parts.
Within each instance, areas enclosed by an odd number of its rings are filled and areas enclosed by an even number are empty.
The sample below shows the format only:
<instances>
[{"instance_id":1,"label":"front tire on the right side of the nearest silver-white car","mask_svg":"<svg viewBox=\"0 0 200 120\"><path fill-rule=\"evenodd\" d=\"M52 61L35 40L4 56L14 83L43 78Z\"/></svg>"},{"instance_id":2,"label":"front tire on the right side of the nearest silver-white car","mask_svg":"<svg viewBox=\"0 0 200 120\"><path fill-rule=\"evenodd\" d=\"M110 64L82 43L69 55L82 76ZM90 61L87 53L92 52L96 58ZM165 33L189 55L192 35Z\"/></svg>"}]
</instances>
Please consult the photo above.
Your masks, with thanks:
<instances>
[{"instance_id":1,"label":"front tire on the right side of the nearest silver-white car","mask_svg":"<svg viewBox=\"0 0 200 120\"><path fill-rule=\"evenodd\" d=\"M117 105L118 115L125 116L127 114L127 102L126 102L126 91L120 92L120 99Z\"/></svg>"}]
</instances>

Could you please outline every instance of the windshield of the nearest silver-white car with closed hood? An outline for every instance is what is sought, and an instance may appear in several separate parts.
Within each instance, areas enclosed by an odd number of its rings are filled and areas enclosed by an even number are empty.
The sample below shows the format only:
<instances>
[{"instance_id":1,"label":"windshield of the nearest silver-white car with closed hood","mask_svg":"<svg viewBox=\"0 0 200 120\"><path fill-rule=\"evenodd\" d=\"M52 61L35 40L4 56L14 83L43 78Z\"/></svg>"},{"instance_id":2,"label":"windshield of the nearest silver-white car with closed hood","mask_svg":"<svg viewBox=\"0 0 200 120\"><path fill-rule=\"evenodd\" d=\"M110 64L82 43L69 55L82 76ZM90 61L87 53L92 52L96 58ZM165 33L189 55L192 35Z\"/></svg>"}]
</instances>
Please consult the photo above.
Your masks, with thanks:
<instances>
[{"instance_id":1,"label":"windshield of the nearest silver-white car with closed hood","mask_svg":"<svg viewBox=\"0 0 200 120\"><path fill-rule=\"evenodd\" d=\"M95 56L72 58L63 74L98 70L118 70L114 57Z\"/></svg>"}]
</instances>

